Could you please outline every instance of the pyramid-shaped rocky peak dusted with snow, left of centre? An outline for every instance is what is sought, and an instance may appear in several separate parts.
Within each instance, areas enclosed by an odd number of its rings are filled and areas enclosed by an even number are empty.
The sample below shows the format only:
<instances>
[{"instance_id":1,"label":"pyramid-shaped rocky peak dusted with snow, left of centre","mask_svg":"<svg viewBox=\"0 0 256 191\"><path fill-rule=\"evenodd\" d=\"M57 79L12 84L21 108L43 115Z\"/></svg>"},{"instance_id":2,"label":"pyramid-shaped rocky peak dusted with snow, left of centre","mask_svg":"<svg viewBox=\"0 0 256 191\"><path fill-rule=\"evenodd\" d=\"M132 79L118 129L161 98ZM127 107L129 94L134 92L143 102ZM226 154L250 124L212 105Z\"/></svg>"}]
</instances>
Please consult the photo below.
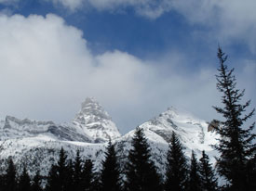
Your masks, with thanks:
<instances>
[{"instance_id":1,"label":"pyramid-shaped rocky peak dusted with snow, left of centre","mask_svg":"<svg viewBox=\"0 0 256 191\"><path fill-rule=\"evenodd\" d=\"M95 142L105 142L121 136L109 114L94 98L87 98L81 110L76 114L74 126L82 129Z\"/></svg>"}]
</instances>

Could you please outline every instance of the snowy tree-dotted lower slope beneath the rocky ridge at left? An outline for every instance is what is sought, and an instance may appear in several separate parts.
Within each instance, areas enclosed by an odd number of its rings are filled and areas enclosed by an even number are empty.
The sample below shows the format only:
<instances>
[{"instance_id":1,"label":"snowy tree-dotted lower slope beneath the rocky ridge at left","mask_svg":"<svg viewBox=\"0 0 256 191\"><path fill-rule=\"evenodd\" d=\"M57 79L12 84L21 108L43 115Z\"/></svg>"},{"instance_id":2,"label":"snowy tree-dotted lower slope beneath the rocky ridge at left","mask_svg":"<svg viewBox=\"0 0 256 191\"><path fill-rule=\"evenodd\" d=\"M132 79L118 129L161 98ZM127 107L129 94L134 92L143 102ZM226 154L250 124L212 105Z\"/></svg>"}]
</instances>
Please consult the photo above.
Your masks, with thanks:
<instances>
[{"instance_id":1,"label":"snowy tree-dotted lower slope beneath the rocky ridge at left","mask_svg":"<svg viewBox=\"0 0 256 191\"><path fill-rule=\"evenodd\" d=\"M51 165L57 162L61 147L63 147L67 152L68 159L74 159L76 150L79 149L83 159L92 159L95 161L95 166L101 167L101 159L103 159L106 145L107 143L60 141L43 134L34 137L13 138L0 141L0 164L5 169L7 167L6 159L11 156L14 162L20 165L18 172L21 172L22 165L26 164L31 175L34 175L37 170L40 170L42 175L47 175Z\"/></svg>"}]
</instances>

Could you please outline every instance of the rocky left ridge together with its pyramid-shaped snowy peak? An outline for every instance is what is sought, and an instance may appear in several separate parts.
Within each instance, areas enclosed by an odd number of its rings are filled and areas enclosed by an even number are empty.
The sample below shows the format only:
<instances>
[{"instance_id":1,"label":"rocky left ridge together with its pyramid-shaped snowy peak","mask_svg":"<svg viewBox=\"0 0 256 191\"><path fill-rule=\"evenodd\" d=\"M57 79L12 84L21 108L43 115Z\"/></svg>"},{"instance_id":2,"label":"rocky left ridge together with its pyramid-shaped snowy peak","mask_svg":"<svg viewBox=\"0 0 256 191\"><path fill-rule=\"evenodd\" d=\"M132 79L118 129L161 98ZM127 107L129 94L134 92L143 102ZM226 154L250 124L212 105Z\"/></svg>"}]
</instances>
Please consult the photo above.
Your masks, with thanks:
<instances>
[{"instance_id":1,"label":"rocky left ridge together with its pyramid-shaped snowy peak","mask_svg":"<svg viewBox=\"0 0 256 191\"><path fill-rule=\"evenodd\" d=\"M82 103L71 123L55 124L53 121L20 120L7 116L5 121L0 121L0 134L0 140L44 134L56 140L89 143L106 142L121 136L108 113L92 98Z\"/></svg>"}]
</instances>

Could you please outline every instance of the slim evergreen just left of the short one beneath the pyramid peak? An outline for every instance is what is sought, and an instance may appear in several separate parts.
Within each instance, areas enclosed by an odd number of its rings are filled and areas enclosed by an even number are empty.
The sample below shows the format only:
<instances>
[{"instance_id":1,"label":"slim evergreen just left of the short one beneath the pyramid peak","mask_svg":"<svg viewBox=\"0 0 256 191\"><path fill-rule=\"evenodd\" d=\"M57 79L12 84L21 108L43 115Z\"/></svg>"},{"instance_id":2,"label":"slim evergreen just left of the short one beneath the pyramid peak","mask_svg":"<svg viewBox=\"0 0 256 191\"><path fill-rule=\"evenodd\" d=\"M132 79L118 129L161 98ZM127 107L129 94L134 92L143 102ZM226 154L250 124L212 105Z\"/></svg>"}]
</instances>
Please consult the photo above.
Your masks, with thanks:
<instances>
[{"instance_id":1,"label":"slim evergreen just left of the short one beneath the pyramid peak","mask_svg":"<svg viewBox=\"0 0 256 191\"><path fill-rule=\"evenodd\" d=\"M82 159L80 157L80 151L76 150L76 157L74 159L74 190L82 191Z\"/></svg>"}]
</instances>

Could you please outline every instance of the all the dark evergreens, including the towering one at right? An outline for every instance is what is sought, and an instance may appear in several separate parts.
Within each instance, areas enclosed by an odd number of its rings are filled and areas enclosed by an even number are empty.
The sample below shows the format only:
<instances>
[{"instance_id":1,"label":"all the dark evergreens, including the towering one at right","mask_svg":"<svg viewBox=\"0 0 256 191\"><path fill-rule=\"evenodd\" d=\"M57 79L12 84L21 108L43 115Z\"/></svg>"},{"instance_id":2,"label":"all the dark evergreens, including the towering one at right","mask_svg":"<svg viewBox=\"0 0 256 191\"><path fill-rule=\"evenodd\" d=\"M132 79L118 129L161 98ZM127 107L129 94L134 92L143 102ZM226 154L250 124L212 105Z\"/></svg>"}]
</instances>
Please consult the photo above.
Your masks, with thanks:
<instances>
[{"instance_id":1,"label":"all the dark evergreens, including the towering one at right","mask_svg":"<svg viewBox=\"0 0 256 191\"><path fill-rule=\"evenodd\" d=\"M214 107L222 114L219 144L213 146L220 153L216 172L209 162L209 156L202 151L196 159L192 151L191 159L184 155L184 148L174 132L170 137L167 155L166 174L160 174L152 160L152 150L143 130L137 128L128 151L128 160L121 171L116 155L115 144L110 141L105 158L101 161L101 171L94 171L93 161L83 161L79 150L74 160L67 159L61 148L59 160L53 164L46 179L37 172L31 180L26 167L20 176L15 165L8 160L7 172L0 176L1 190L4 191L243 191L255 190L256 183L256 145L252 130L255 122L248 128L246 121L255 109L248 114L246 108L250 101L241 104L244 90L236 89L234 69L229 70L227 57L218 49L220 67L216 75L217 89L222 93L222 107ZM222 179L222 184L218 185ZM44 189L41 185L45 185Z\"/></svg>"}]
</instances>

